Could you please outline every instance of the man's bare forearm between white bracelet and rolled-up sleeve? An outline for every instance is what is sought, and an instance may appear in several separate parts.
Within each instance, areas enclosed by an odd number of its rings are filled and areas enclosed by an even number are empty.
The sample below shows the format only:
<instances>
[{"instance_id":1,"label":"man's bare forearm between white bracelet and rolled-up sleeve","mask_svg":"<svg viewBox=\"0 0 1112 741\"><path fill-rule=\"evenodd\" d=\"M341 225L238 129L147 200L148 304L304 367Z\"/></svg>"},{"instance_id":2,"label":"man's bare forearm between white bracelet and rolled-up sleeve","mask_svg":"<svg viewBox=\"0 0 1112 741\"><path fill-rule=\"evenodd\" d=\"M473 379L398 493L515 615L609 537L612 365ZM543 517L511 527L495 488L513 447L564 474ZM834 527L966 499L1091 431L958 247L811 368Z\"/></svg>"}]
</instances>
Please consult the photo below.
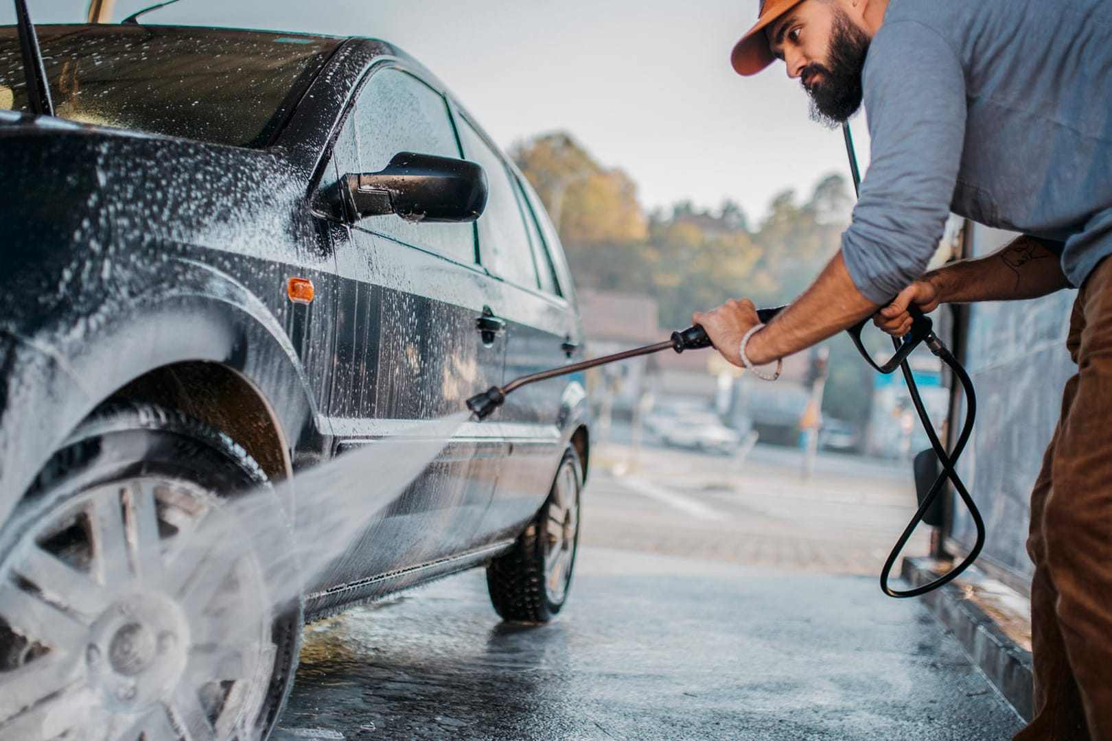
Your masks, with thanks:
<instances>
[{"instance_id":1,"label":"man's bare forearm between white bracelet and rolled-up sleeve","mask_svg":"<svg viewBox=\"0 0 1112 741\"><path fill-rule=\"evenodd\" d=\"M803 296L753 336L746 354L756 364L775 361L853 327L876 309L857 290L838 252Z\"/></svg>"}]
</instances>

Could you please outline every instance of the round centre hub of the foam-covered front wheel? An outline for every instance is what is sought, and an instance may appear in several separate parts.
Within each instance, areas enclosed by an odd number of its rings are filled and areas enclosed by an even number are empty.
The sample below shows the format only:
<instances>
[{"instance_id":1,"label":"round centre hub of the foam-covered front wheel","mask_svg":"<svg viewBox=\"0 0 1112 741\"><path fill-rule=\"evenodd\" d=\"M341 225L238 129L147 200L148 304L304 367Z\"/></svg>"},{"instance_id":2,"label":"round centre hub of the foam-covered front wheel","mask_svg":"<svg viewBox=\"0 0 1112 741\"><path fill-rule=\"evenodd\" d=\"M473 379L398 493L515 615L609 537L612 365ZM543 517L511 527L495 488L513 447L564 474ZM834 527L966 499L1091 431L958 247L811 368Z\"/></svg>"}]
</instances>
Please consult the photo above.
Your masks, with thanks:
<instances>
[{"instance_id":1,"label":"round centre hub of the foam-covered front wheel","mask_svg":"<svg viewBox=\"0 0 1112 741\"><path fill-rule=\"evenodd\" d=\"M188 660L186 615L158 592L115 602L92 624L89 638L90 683L106 705L118 710L133 711L168 697Z\"/></svg>"}]
</instances>

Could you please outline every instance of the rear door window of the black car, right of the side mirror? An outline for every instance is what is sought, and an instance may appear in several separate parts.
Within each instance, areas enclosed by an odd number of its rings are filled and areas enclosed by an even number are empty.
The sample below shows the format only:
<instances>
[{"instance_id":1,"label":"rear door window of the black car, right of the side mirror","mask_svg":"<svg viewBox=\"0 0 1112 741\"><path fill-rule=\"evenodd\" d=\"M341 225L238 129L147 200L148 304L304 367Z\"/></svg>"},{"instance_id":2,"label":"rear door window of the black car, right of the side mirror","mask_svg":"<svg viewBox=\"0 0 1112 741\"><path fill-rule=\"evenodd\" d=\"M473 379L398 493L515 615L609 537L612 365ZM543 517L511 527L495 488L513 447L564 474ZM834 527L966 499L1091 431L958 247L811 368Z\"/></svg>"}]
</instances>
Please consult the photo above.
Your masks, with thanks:
<instances>
[{"instance_id":1,"label":"rear door window of the black car, right of the side mirror","mask_svg":"<svg viewBox=\"0 0 1112 741\"><path fill-rule=\"evenodd\" d=\"M538 288L533 247L509 170L466 119L460 119L459 138L464 156L481 164L487 176L487 207L477 222L483 264L499 278Z\"/></svg>"}]
</instances>

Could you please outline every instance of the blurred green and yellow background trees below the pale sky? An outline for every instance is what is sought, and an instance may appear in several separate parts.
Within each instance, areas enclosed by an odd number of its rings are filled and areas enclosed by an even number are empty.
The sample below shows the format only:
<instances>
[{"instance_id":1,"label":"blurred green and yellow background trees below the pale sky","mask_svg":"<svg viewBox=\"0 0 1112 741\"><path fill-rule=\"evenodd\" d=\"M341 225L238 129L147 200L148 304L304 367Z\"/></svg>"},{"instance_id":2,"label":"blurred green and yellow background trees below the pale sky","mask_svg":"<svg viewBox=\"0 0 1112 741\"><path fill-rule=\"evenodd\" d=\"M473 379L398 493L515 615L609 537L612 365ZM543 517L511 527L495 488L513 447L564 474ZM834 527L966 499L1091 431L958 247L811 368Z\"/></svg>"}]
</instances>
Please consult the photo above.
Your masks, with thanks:
<instances>
[{"instance_id":1,"label":"blurred green and yellow background trees below the pale sky","mask_svg":"<svg viewBox=\"0 0 1112 741\"><path fill-rule=\"evenodd\" d=\"M602 167L566 133L522 144L514 158L559 230L576 283L652 296L664 327L684 327L693 311L731 298L794 300L838 250L852 206L845 180L828 176L802 203L794 191L776 193L752 232L729 200L716 213L683 200L646 218L633 180ZM845 338L830 348L824 411L864 423L871 371Z\"/></svg>"}]
</instances>

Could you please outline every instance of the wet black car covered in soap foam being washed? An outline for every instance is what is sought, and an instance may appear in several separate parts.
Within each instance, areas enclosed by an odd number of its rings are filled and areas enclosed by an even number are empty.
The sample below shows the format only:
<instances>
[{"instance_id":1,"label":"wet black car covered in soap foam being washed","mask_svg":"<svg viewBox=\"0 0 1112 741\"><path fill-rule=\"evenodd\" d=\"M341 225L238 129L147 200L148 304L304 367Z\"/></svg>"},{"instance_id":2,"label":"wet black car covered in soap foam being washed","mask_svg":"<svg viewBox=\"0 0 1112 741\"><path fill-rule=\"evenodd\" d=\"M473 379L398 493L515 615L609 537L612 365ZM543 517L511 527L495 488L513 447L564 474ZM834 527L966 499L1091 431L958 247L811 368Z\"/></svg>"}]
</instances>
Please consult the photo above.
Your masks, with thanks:
<instances>
[{"instance_id":1,"label":"wet black car covered in soap foam being washed","mask_svg":"<svg viewBox=\"0 0 1112 741\"><path fill-rule=\"evenodd\" d=\"M0 29L0 739L265 737L306 619L473 567L504 618L550 619L582 377L465 423L280 608L266 563L190 545L292 477L280 541L328 505L298 471L582 357L555 230L470 113L383 41L38 38L54 116Z\"/></svg>"}]
</instances>

